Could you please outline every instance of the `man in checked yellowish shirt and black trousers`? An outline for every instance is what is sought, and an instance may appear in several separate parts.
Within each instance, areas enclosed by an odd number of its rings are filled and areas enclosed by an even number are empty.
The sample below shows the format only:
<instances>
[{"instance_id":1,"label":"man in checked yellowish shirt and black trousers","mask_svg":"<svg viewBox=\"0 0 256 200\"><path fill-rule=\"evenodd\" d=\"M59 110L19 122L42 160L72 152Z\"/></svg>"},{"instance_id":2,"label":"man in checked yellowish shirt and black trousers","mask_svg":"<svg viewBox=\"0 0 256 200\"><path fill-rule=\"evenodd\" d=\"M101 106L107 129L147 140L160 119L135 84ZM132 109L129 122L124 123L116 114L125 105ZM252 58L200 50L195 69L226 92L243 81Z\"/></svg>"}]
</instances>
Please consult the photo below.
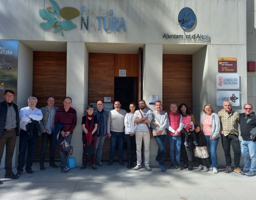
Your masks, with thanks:
<instances>
[{"instance_id":1,"label":"man in checked yellowish shirt and black trousers","mask_svg":"<svg viewBox=\"0 0 256 200\"><path fill-rule=\"evenodd\" d=\"M230 173L232 171L231 168L231 155L230 155L230 144L234 151L234 172L245 175L245 173L240 169L240 142L238 139L238 123L240 123L240 115L238 112L232 110L232 104L230 101L225 101L223 103L223 107L225 110L220 111L218 116L220 118L220 134L222 147L225 153L226 158L226 173Z\"/></svg>"}]
</instances>

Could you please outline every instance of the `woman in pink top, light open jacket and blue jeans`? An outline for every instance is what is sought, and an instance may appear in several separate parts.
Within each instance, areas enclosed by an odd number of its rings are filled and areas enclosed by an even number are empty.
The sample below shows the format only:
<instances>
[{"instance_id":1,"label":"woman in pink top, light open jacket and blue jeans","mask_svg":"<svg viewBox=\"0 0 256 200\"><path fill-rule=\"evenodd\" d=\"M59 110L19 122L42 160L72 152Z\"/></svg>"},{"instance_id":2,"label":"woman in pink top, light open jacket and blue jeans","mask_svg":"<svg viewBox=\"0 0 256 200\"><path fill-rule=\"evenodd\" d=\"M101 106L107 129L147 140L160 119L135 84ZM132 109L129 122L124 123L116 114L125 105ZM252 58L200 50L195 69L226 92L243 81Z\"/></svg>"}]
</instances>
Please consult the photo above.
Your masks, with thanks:
<instances>
[{"instance_id":1,"label":"woman in pink top, light open jacket and blue jeans","mask_svg":"<svg viewBox=\"0 0 256 200\"><path fill-rule=\"evenodd\" d=\"M213 173L217 174L217 145L220 137L220 118L214 113L211 104L206 104L203 108L205 114L202 116L201 130L206 137L206 146L209 153L209 170L213 170Z\"/></svg>"}]
</instances>

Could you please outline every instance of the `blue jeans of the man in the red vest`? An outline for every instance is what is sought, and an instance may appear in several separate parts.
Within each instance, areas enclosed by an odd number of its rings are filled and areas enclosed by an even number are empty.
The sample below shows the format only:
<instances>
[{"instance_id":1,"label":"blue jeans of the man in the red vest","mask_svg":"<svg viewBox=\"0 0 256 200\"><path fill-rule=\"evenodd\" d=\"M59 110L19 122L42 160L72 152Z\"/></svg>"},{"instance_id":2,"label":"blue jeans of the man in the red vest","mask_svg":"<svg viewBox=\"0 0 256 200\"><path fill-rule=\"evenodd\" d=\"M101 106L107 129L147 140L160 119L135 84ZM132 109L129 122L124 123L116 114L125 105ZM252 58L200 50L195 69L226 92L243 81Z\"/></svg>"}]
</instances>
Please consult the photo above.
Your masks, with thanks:
<instances>
[{"instance_id":1,"label":"blue jeans of the man in the red vest","mask_svg":"<svg viewBox=\"0 0 256 200\"><path fill-rule=\"evenodd\" d=\"M169 141L169 153L170 153L171 162L174 162L174 147L175 147L176 162L179 162L181 136L176 136L175 137L175 136L169 136L168 135L168 141Z\"/></svg>"}]
</instances>

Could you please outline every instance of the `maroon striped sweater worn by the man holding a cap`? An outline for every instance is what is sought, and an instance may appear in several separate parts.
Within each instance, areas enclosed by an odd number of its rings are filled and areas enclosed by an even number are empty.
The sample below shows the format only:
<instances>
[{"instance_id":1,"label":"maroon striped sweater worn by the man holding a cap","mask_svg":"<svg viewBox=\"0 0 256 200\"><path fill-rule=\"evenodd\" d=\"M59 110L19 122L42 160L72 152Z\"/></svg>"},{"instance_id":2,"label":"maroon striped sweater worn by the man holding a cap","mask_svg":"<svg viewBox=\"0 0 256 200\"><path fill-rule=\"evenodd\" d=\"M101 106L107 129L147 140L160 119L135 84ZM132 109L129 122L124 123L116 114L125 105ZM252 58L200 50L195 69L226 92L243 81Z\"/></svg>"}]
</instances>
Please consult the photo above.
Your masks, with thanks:
<instances>
[{"instance_id":1,"label":"maroon striped sweater worn by the man holding a cap","mask_svg":"<svg viewBox=\"0 0 256 200\"><path fill-rule=\"evenodd\" d=\"M72 134L74 128L77 125L76 110L70 107L68 112L66 112L64 106L58 108L54 117L54 125L56 126L57 123L63 124L65 126L63 129L64 132L69 131L70 134Z\"/></svg>"}]
</instances>

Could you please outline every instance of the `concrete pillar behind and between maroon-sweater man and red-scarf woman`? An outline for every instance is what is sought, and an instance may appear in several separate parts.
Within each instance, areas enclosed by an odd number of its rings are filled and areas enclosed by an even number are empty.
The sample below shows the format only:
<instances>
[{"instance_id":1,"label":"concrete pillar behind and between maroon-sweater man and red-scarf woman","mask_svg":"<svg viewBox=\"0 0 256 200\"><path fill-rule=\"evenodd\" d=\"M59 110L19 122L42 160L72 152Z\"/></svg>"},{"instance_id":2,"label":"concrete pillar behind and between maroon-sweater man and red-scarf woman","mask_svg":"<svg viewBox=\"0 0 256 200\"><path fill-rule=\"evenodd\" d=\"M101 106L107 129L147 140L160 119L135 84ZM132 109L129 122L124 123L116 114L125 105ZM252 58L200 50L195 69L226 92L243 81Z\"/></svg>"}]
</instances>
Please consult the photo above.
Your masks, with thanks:
<instances>
[{"instance_id":1,"label":"concrete pillar behind and between maroon-sweater man and red-scarf woman","mask_svg":"<svg viewBox=\"0 0 256 200\"><path fill-rule=\"evenodd\" d=\"M80 117L88 104L88 59L84 42L67 42L67 96L72 98L71 107L77 111L77 126L73 131L71 146L76 165L82 165L82 126Z\"/></svg>"}]
</instances>

